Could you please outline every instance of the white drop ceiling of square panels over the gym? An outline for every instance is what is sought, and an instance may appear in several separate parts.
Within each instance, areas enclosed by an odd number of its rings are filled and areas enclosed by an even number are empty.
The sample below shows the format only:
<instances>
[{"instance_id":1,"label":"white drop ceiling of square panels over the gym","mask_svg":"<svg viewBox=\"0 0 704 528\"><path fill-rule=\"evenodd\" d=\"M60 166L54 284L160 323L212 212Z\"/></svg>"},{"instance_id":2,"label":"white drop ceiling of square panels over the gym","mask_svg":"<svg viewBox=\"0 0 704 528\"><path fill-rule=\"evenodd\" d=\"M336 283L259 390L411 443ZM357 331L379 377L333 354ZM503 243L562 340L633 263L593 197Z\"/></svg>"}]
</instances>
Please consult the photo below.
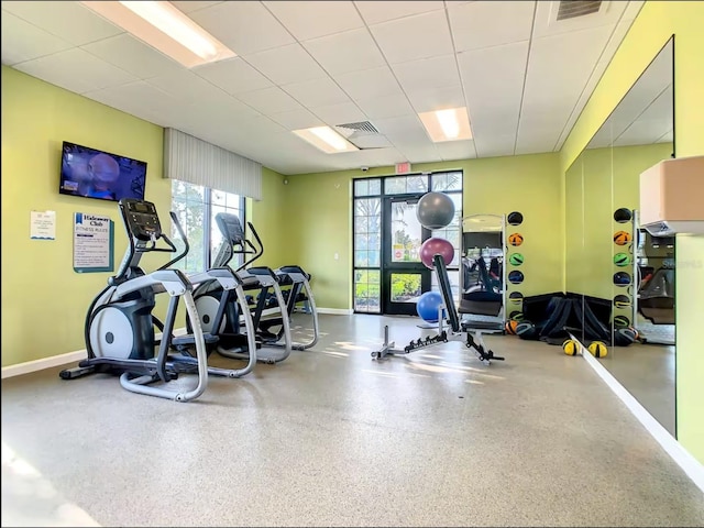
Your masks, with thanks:
<instances>
[{"instance_id":1,"label":"white drop ceiling of square panels over the gym","mask_svg":"<svg viewBox=\"0 0 704 528\"><path fill-rule=\"evenodd\" d=\"M79 2L2 1L2 64L282 174L559 151L642 1L174 1L238 56L187 69ZM473 140L418 112L466 106ZM358 152L290 131L369 121Z\"/></svg>"}]
</instances>

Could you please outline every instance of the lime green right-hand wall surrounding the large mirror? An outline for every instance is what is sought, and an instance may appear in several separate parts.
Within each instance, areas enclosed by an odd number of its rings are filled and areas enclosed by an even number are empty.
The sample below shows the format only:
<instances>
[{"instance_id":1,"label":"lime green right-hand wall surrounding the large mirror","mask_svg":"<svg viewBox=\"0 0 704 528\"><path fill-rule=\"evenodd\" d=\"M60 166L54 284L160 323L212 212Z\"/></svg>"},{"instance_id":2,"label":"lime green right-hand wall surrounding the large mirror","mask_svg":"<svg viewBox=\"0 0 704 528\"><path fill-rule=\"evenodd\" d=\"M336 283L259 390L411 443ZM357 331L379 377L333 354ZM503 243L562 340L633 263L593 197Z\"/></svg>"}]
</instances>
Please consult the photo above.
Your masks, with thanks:
<instances>
[{"instance_id":1,"label":"lime green right-hand wall surrounding the large mirror","mask_svg":"<svg viewBox=\"0 0 704 528\"><path fill-rule=\"evenodd\" d=\"M636 18L560 153L564 174L671 35L674 40L676 156L704 154L704 3L649 1ZM701 299L704 240L678 237L678 439L704 463L704 354Z\"/></svg>"}]
</instances>

